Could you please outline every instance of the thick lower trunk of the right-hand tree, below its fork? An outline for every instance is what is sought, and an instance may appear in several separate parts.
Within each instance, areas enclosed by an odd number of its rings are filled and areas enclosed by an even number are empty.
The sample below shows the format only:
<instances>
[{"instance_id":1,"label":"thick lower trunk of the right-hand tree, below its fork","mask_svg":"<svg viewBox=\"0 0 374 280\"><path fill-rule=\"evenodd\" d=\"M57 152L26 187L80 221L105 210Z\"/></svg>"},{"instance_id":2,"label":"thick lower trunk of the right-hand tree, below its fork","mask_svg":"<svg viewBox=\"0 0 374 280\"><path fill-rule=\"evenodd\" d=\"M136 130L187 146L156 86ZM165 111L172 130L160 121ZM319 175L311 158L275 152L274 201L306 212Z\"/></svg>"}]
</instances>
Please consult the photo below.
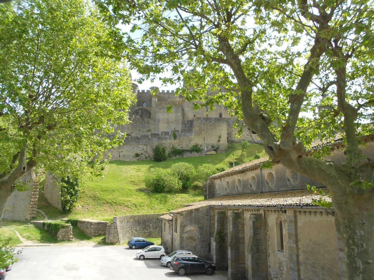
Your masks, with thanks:
<instances>
[{"instance_id":1,"label":"thick lower trunk of the right-hand tree, below its fork","mask_svg":"<svg viewBox=\"0 0 374 280\"><path fill-rule=\"evenodd\" d=\"M335 191L332 200L336 230L346 252L347 279L373 279L374 189L348 185Z\"/></svg>"}]
</instances>

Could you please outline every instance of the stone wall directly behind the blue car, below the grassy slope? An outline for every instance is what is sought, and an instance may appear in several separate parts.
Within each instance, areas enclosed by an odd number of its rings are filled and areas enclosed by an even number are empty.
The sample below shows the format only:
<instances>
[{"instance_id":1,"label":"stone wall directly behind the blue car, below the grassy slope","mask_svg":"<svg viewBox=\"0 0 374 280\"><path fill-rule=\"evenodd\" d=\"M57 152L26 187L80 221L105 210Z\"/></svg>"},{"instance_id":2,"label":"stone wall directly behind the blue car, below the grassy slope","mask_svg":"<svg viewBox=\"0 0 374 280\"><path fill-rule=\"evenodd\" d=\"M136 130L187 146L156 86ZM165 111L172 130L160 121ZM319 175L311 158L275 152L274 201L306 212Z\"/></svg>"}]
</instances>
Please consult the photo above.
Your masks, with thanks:
<instances>
[{"instance_id":1,"label":"stone wall directly behind the blue car, below the grassy slope","mask_svg":"<svg viewBox=\"0 0 374 280\"><path fill-rule=\"evenodd\" d=\"M160 237L161 222L158 218L165 213L127 215L113 217L107 226L107 243L122 243L131 237Z\"/></svg>"}]
</instances>

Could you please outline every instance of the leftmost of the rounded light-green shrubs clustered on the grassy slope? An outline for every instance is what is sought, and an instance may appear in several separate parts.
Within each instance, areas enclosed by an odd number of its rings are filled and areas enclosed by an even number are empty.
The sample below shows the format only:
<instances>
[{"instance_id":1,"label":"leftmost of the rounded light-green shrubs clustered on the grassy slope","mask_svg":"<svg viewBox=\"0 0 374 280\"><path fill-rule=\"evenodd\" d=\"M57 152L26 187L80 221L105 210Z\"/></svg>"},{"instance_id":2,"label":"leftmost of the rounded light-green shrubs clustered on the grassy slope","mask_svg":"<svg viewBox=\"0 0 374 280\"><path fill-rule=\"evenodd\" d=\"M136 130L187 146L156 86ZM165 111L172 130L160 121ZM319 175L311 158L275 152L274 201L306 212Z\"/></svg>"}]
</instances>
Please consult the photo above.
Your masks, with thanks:
<instances>
[{"instance_id":1,"label":"leftmost of the rounded light-green shrubs clustered on the grassy slope","mask_svg":"<svg viewBox=\"0 0 374 280\"><path fill-rule=\"evenodd\" d=\"M157 193L174 192L180 190L182 182L177 174L170 169L151 168L144 176L144 183L148 189Z\"/></svg>"}]
</instances>

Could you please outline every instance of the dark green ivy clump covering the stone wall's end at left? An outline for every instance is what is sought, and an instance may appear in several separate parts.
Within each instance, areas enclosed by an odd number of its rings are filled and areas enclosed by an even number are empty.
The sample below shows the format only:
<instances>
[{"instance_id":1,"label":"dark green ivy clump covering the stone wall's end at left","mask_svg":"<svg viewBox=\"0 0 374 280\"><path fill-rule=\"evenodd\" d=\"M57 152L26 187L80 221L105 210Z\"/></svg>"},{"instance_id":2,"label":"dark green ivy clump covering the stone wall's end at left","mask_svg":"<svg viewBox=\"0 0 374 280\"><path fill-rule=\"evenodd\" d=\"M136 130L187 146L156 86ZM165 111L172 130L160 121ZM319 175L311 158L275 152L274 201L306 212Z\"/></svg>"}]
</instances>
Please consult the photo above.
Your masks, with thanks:
<instances>
[{"instance_id":1,"label":"dark green ivy clump covering the stone wall's end at left","mask_svg":"<svg viewBox=\"0 0 374 280\"><path fill-rule=\"evenodd\" d=\"M60 196L62 212L73 211L79 198L79 181L69 176L61 178Z\"/></svg>"}]
</instances>

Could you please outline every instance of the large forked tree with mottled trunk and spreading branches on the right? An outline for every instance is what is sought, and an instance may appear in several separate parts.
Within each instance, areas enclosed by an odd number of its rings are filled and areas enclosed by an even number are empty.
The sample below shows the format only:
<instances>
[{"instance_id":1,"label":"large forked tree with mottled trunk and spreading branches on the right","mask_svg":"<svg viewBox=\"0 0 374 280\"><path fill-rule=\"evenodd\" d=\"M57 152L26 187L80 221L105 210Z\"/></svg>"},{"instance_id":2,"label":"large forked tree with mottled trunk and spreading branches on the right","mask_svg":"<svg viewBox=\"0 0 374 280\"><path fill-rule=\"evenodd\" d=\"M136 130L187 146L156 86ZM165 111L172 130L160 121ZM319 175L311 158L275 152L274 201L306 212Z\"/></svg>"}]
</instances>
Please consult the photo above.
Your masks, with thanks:
<instances>
[{"instance_id":1,"label":"large forked tree with mottled trunk and spreading branches on the right","mask_svg":"<svg viewBox=\"0 0 374 280\"><path fill-rule=\"evenodd\" d=\"M327 186L348 278L374 275L374 161L357 138L373 132L373 1L97 1L108 23L132 25L127 57L143 79L168 70L176 94L222 103L273 162ZM328 146L306 155L337 131L343 163L322 159Z\"/></svg>"}]
</instances>

